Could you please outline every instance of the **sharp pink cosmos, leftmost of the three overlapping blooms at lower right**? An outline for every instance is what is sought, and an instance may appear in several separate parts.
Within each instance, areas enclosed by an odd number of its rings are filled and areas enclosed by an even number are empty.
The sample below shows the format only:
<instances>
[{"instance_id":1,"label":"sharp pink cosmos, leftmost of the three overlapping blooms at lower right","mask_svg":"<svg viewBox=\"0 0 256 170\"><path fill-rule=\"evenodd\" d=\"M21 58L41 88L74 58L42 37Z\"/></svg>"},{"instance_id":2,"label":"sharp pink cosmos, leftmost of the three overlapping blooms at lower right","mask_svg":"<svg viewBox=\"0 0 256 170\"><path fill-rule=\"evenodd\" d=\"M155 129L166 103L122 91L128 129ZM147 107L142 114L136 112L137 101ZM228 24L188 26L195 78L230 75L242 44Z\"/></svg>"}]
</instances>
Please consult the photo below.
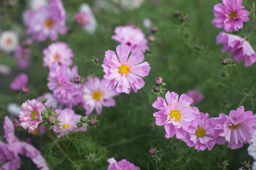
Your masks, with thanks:
<instances>
[{"instance_id":1,"label":"sharp pink cosmos, leftmost of the three overlapping blooms at lower right","mask_svg":"<svg viewBox=\"0 0 256 170\"><path fill-rule=\"evenodd\" d=\"M156 125L164 125L165 137L170 138L176 134L178 139L185 139L186 134L193 134L198 129L197 118L200 113L197 107L191 107L193 100L186 94L179 96L175 92L167 92L166 101L158 97L152 106L160 111L153 114Z\"/></svg>"}]
</instances>

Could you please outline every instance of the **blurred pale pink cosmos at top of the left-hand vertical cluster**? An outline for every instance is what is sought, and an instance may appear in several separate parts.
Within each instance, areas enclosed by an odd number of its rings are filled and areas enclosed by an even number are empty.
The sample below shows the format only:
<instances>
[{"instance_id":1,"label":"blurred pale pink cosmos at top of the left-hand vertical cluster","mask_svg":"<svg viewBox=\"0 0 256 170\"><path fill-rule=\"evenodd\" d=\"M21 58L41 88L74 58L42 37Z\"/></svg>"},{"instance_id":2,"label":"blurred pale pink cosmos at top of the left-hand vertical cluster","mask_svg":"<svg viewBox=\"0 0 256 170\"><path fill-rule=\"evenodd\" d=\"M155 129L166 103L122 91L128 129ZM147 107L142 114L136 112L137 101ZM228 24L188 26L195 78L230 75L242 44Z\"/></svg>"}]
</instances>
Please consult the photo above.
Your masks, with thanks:
<instances>
[{"instance_id":1,"label":"blurred pale pink cosmos at top of the left-hand vertical cluster","mask_svg":"<svg viewBox=\"0 0 256 170\"><path fill-rule=\"evenodd\" d=\"M44 64L43 66L51 67L54 64L71 66L73 61L72 49L68 48L66 43L56 42L51 43L47 49L43 50Z\"/></svg>"}]
</instances>

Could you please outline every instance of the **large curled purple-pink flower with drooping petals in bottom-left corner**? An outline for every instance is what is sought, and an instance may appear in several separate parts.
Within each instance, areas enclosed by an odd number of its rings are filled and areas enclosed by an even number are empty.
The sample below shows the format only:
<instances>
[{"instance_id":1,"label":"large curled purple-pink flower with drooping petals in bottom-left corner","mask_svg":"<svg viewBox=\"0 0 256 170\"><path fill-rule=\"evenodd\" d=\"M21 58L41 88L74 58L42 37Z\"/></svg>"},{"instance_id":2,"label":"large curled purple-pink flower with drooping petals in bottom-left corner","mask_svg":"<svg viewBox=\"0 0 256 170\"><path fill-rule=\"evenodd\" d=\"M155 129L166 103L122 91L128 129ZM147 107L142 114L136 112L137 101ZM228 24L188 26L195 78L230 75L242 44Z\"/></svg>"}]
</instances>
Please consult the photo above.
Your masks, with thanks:
<instances>
[{"instance_id":1,"label":"large curled purple-pink flower with drooping petals in bottom-left corner","mask_svg":"<svg viewBox=\"0 0 256 170\"><path fill-rule=\"evenodd\" d=\"M36 168L49 170L40 151L26 142L20 142L15 135L12 121L6 116L4 119L5 138L8 143L0 141L0 170L18 170L21 168L20 155L26 155L36 164Z\"/></svg>"}]
</instances>

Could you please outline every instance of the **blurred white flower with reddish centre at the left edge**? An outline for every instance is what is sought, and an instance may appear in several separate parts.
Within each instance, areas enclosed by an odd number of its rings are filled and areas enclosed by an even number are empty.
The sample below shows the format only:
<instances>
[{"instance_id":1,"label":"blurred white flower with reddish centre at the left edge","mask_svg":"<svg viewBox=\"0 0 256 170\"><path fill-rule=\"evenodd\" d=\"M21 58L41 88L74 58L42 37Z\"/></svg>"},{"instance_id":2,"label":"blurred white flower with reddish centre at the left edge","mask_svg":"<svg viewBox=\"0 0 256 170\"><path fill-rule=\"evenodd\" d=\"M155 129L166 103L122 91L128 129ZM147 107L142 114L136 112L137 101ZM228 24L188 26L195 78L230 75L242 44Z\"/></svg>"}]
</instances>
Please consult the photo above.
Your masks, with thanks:
<instances>
[{"instance_id":1,"label":"blurred white flower with reddish centre at the left edge","mask_svg":"<svg viewBox=\"0 0 256 170\"><path fill-rule=\"evenodd\" d=\"M0 49L10 53L18 46L18 36L14 31L3 31L0 35Z\"/></svg>"}]
</instances>

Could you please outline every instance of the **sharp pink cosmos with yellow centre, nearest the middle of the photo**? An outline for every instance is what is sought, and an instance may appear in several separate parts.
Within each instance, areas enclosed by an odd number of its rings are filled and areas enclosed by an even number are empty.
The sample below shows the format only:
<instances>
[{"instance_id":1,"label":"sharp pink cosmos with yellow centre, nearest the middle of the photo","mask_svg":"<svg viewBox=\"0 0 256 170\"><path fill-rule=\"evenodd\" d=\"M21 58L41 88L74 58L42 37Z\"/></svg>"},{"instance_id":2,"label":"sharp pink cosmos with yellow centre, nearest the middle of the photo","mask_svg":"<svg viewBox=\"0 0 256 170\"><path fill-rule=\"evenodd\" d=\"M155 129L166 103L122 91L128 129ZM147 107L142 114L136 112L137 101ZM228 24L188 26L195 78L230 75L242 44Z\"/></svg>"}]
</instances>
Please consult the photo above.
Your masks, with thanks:
<instances>
[{"instance_id":1,"label":"sharp pink cosmos with yellow centre, nearest the middle of the photo","mask_svg":"<svg viewBox=\"0 0 256 170\"><path fill-rule=\"evenodd\" d=\"M148 76L150 66L148 62L143 62L144 55L136 49L129 57L131 48L127 45L118 45L116 53L114 51L106 51L102 64L104 72L103 77L106 78L105 87L115 88L118 93L125 92L129 94L131 87L134 92L145 85L141 77ZM140 77L141 76L141 77Z\"/></svg>"}]
</instances>

